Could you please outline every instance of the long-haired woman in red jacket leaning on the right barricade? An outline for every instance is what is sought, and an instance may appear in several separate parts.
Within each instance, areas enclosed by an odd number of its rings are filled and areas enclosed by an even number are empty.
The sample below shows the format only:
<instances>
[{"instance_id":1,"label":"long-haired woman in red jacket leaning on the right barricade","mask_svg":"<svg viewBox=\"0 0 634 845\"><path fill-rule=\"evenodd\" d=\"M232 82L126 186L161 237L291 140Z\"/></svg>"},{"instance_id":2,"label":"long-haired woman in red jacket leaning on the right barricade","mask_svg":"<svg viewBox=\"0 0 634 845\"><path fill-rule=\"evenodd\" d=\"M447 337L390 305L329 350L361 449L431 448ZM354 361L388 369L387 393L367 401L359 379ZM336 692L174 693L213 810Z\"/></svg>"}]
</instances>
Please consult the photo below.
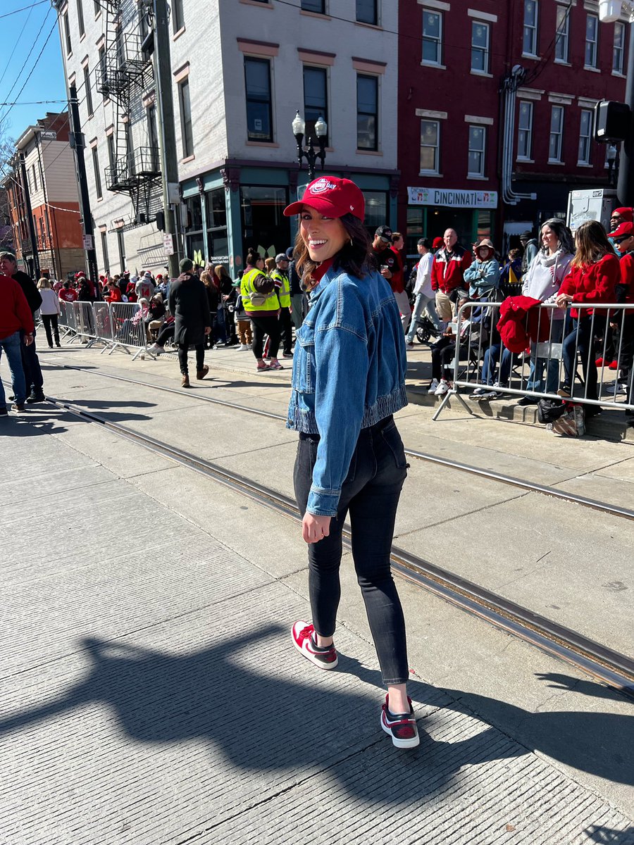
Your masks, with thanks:
<instances>
[{"instance_id":1,"label":"long-haired woman in red jacket leaning on the right barricade","mask_svg":"<svg viewBox=\"0 0 634 845\"><path fill-rule=\"evenodd\" d=\"M573 328L566 335L563 343L565 381L561 395L572 395L572 382L577 370L577 352L581 355L583 378L585 379L584 399L598 399L597 364L593 350L593 309L574 308L575 303L614 303L615 287L620 281L619 259L614 254L605 229L596 220L582 223L575 234L577 252L572 259L571 269L561 282L557 294L557 306L567 308L572 305ZM597 321L603 317L604 310L598 309ZM590 405L586 409L588 416L598 413L598 406Z\"/></svg>"}]
</instances>

